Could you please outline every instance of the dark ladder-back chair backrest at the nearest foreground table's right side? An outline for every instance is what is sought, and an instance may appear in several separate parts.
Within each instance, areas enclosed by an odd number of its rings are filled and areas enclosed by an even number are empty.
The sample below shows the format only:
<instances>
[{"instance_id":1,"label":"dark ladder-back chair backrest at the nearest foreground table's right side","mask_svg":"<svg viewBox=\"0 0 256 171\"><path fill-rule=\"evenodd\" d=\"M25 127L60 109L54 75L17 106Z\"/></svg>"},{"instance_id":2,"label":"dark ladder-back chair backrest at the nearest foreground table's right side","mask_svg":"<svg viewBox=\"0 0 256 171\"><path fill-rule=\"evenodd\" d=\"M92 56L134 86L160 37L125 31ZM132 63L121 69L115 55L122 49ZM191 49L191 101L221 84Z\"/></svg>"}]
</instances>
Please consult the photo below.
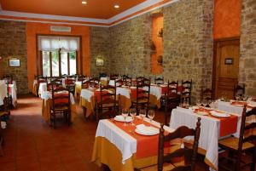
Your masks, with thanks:
<instances>
[{"instance_id":1,"label":"dark ladder-back chair backrest at the nearest foreground table's right side","mask_svg":"<svg viewBox=\"0 0 256 171\"><path fill-rule=\"evenodd\" d=\"M163 124L161 124L159 136L158 171L162 171L164 162L171 162L173 157L184 157L185 160L185 166L175 168L176 171L195 171L195 160L197 156L198 142L201 131L201 117L198 117L195 129L181 126L177 128L174 132L165 136L165 130L163 127ZM171 140L177 138L183 139L186 136L194 136L193 149L181 148L172 153L164 154L164 146L166 142L170 142Z\"/></svg>"}]
</instances>

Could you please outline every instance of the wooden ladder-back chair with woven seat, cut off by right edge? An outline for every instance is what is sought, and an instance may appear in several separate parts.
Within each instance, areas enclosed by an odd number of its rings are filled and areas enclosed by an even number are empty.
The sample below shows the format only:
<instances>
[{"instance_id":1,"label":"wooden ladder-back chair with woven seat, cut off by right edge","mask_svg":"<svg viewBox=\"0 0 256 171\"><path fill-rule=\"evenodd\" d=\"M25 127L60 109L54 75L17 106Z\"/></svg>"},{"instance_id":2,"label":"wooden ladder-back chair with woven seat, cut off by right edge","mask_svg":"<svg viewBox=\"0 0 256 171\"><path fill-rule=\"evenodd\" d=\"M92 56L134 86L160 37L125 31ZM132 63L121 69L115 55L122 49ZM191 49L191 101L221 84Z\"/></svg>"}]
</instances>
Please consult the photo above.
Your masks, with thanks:
<instances>
[{"instance_id":1,"label":"wooden ladder-back chair with woven seat, cut off by right edge","mask_svg":"<svg viewBox=\"0 0 256 171\"><path fill-rule=\"evenodd\" d=\"M256 123L246 123L247 117L256 117L256 108L247 111L244 106L241 115L240 136L229 137L218 141L218 146L229 152L229 155L219 159L219 167L224 170L240 171L241 168L251 165L251 171L255 171L256 162L256 135L253 133L253 128L256 128ZM250 132L251 131L251 132ZM248 134L245 134L245 133ZM250 156L253 156L250 158ZM232 163L227 167L226 163Z\"/></svg>"}]
</instances>

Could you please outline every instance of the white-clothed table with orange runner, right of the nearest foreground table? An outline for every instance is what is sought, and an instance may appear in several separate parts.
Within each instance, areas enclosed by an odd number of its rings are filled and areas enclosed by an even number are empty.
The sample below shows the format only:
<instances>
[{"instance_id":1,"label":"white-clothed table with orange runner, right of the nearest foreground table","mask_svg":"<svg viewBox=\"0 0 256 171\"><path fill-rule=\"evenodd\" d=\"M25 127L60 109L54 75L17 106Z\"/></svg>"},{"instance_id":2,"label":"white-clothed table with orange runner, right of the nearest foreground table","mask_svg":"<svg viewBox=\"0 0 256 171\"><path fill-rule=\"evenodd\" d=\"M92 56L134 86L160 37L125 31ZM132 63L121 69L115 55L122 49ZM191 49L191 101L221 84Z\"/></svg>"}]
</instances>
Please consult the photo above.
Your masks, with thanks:
<instances>
[{"instance_id":1,"label":"white-clothed table with orange runner, right of the nearest foreground table","mask_svg":"<svg viewBox=\"0 0 256 171\"><path fill-rule=\"evenodd\" d=\"M239 137L241 115L201 106L177 107L172 110L170 127L175 129L184 125L194 128L197 117L201 117L199 152L205 156L204 161L210 170L218 170L218 140L231 135ZM188 138L186 141L192 140Z\"/></svg>"}]
</instances>

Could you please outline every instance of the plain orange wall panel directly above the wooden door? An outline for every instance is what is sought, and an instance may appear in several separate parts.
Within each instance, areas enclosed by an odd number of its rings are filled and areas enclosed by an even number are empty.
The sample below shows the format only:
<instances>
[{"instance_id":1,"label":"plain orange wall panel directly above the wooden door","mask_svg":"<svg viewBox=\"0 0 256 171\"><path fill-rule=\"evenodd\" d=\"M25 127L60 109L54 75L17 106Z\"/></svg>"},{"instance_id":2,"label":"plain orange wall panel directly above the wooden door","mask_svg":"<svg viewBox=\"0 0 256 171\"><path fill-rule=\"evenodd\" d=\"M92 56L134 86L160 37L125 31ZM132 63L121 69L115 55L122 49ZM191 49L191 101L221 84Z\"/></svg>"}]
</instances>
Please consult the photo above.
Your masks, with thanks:
<instances>
[{"instance_id":1,"label":"plain orange wall panel directly above the wooden door","mask_svg":"<svg viewBox=\"0 0 256 171\"><path fill-rule=\"evenodd\" d=\"M215 0L213 38L240 37L241 0Z\"/></svg>"}]
</instances>

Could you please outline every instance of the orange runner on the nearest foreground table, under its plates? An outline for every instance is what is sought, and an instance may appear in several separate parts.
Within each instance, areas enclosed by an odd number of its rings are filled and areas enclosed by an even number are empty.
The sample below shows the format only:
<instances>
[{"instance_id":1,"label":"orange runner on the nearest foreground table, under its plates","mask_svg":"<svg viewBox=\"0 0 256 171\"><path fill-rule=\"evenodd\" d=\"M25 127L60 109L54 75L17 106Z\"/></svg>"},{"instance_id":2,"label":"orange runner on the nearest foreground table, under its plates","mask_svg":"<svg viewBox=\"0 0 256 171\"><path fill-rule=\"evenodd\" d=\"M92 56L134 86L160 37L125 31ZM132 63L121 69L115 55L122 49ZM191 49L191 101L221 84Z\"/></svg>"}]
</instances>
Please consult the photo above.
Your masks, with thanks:
<instances>
[{"instance_id":1,"label":"orange runner on the nearest foreground table, under its plates","mask_svg":"<svg viewBox=\"0 0 256 171\"><path fill-rule=\"evenodd\" d=\"M118 128L121 128L123 131L125 131L125 133L130 134L133 138L137 140L137 158L154 157L158 155L159 134L151 136L137 134L135 132L136 126L132 126L131 123L127 123L127 125L124 126L124 123L121 122L113 122L113 120L111 120L111 122L114 123ZM136 125L143 123L146 126L150 126L150 123L142 121L142 119L139 119L137 117L133 123L135 123ZM168 132L165 132L165 134L168 134ZM170 143L165 144L166 150L168 150L167 147L170 147Z\"/></svg>"}]
</instances>

